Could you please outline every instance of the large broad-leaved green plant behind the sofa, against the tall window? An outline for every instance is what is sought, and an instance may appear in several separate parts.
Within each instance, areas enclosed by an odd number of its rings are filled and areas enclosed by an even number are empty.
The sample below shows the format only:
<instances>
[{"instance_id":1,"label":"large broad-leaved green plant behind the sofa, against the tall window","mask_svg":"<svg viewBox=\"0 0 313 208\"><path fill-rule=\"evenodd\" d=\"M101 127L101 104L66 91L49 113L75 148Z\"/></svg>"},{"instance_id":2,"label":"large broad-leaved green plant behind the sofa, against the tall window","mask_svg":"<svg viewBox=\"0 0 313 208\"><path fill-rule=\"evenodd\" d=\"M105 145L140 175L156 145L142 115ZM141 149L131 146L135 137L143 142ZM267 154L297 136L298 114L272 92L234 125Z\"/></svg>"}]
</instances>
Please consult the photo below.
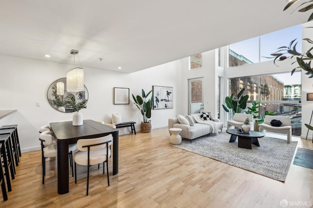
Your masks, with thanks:
<instances>
[{"instance_id":1,"label":"large broad-leaved green plant behind the sofa, against the tall window","mask_svg":"<svg viewBox=\"0 0 313 208\"><path fill-rule=\"evenodd\" d=\"M224 111L229 113L230 118L232 119L235 113L242 113L243 110L246 109L246 102L248 101L249 96L245 95L243 96L242 94L244 93L245 88L240 90L240 92L237 95L237 98L234 97L234 93L231 94L229 97L225 97L225 104L223 105ZM238 99L239 98L239 99Z\"/></svg>"}]
</instances>

